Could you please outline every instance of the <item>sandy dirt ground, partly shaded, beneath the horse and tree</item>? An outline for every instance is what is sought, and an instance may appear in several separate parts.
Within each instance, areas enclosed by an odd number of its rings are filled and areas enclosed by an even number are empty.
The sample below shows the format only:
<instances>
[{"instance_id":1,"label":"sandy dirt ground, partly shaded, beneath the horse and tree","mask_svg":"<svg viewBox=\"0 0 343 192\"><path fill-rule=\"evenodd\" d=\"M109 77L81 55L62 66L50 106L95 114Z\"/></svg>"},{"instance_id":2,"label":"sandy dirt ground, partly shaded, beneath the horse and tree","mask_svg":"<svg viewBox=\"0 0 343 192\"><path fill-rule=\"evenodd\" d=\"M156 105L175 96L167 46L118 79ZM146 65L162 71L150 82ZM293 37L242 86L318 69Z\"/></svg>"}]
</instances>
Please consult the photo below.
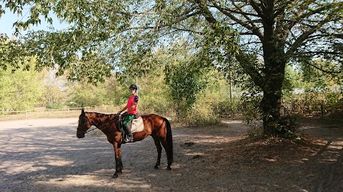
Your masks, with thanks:
<instances>
[{"instance_id":1,"label":"sandy dirt ground, partly shaded, beneath the horse and tree","mask_svg":"<svg viewBox=\"0 0 343 192\"><path fill-rule=\"evenodd\" d=\"M173 127L174 163L154 169L150 137L124 144L124 173L99 131L77 118L0 122L0 191L343 191L343 126L302 122L303 142L252 139L239 120Z\"/></svg>"}]
</instances>

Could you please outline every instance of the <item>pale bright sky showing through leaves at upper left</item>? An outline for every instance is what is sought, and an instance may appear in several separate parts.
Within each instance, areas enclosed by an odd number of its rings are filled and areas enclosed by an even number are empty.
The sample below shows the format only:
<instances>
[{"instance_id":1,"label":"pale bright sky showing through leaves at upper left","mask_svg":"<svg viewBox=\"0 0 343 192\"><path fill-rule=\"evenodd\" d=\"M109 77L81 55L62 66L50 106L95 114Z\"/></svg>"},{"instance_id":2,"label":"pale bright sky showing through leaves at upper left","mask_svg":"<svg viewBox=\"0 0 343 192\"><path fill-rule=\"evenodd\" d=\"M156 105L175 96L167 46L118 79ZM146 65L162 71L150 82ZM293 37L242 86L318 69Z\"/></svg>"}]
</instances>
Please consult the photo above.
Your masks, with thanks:
<instances>
[{"instance_id":1,"label":"pale bright sky showing through leaves at upper left","mask_svg":"<svg viewBox=\"0 0 343 192\"><path fill-rule=\"evenodd\" d=\"M24 16L17 16L16 14L13 14L9 9L5 9L5 14L3 14L0 17L0 33L6 33L7 36L11 37L14 32L15 28L13 27L13 23L16 21L26 21L26 18L28 15L25 15L26 13L23 11ZM52 15L51 18L53 19L53 26L56 30L66 28L68 25L66 23L60 23L56 16ZM46 23L44 18L41 18L41 24L39 26L31 26L30 30L44 30L49 31L49 23ZM25 34L27 31L21 31L21 34Z\"/></svg>"}]
</instances>

